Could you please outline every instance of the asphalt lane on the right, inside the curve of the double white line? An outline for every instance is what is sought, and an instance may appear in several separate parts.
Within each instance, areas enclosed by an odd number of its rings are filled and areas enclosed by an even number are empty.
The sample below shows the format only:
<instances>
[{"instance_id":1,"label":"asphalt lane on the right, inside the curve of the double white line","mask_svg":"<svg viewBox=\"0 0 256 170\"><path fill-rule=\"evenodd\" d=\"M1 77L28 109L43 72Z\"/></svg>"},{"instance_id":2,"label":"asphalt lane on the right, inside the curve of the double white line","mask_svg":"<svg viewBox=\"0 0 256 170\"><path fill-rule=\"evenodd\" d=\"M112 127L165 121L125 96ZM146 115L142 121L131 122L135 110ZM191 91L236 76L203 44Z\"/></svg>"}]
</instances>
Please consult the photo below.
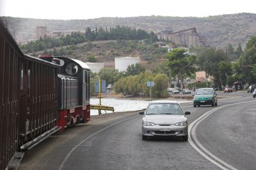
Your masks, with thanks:
<instances>
[{"instance_id":1,"label":"asphalt lane on the right, inside the curve of the double white line","mask_svg":"<svg viewBox=\"0 0 256 170\"><path fill-rule=\"evenodd\" d=\"M252 100L252 94L248 99ZM236 169L256 169L255 106L256 100L211 114L196 129L200 143Z\"/></svg>"}]
</instances>

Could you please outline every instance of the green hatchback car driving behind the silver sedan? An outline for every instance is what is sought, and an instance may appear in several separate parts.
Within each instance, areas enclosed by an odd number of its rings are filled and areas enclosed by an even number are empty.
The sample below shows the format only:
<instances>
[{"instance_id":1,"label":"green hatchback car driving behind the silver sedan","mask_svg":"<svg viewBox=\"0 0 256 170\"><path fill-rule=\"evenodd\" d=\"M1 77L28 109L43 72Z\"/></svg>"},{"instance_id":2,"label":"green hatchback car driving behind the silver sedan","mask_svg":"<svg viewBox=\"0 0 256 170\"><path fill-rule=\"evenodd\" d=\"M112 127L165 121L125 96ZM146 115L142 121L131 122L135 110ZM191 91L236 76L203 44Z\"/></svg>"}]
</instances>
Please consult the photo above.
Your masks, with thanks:
<instances>
[{"instance_id":1,"label":"green hatchback car driving behind the silver sedan","mask_svg":"<svg viewBox=\"0 0 256 170\"><path fill-rule=\"evenodd\" d=\"M212 107L218 105L217 93L213 88L200 88L196 90L193 99L194 107L200 105L212 105Z\"/></svg>"}]
</instances>

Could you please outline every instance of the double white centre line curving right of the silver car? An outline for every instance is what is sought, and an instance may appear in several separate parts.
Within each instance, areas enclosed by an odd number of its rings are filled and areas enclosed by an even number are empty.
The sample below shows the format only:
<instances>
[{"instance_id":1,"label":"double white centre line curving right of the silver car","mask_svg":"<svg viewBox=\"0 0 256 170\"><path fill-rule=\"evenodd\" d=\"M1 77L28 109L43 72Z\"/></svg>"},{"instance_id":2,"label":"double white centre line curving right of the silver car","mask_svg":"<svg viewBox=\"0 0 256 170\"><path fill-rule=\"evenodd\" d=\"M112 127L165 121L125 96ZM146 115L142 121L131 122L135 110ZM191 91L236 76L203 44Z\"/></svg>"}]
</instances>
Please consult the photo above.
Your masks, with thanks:
<instances>
[{"instance_id":1,"label":"double white centre line curving right of the silver car","mask_svg":"<svg viewBox=\"0 0 256 170\"><path fill-rule=\"evenodd\" d=\"M249 101L249 102L255 102L255 100ZM237 104L243 104L248 102L237 102L234 104L227 104L220 107L216 107L212 109L209 112L205 112L202 116L200 116L198 119L193 121L189 127L188 127L188 134L189 134L189 143L193 148L195 148L198 153L200 153L203 157L207 158L207 160L211 161L216 166L220 167L221 169L236 169L235 167L231 166L230 164L227 164L227 162L221 160L220 158L216 157L214 154L212 154L209 150L207 150L197 139L196 137L196 127L200 124L201 121L205 120L207 116L212 114L212 112L218 111L224 107L228 107L230 105L237 105Z\"/></svg>"}]
</instances>

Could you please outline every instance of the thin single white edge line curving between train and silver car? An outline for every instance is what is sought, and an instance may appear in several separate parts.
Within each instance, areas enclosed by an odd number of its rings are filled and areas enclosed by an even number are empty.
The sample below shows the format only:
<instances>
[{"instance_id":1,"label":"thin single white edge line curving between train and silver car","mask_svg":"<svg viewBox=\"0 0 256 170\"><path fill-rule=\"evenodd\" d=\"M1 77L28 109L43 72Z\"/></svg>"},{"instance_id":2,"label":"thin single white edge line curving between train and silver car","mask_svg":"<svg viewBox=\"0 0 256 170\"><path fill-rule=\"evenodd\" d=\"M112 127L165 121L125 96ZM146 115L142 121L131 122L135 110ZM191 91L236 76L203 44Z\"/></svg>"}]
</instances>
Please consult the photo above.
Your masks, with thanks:
<instances>
[{"instance_id":1,"label":"thin single white edge line curving between train and silver car","mask_svg":"<svg viewBox=\"0 0 256 170\"><path fill-rule=\"evenodd\" d=\"M90 138L93 137L94 135L97 135L97 134L99 134L100 132L102 132L102 131L104 131L104 130L110 128L110 127L115 126L115 125L118 124L118 123L121 123L121 122L127 121L127 120L131 120L132 118L136 118L136 117L138 117L138 116L140 116L140 115L132 116L131 118L127 118L127 119L125 119L125 120L118 121L118 122L116 122L116 123L114 123L114 124L112 124L112 125L109 125L109 126L106 127L106 128L102 128L102 129L100 129L99 131L95 132L94 134L92 134L92 135L86 137L86 139L84 139L83 141L81 141L81 143L79 143L79 144L77 144L76 146L74 146L74 148L72 148L72 150L70 150L70 151L68 152L68 154L67 154L67 156L65 157L65 159L61 162L61 165L60 165L60 168L59 168L59 169L63 169L63 166L64 166L65 162L67 161L68 157L70 157L70 155L73 153L73 151L76 150L76 148L77 148L78 146L81 146L81 144L83 144L85 141L87 141L88 139L90 139Z\"/></svg>"}]
</instances>

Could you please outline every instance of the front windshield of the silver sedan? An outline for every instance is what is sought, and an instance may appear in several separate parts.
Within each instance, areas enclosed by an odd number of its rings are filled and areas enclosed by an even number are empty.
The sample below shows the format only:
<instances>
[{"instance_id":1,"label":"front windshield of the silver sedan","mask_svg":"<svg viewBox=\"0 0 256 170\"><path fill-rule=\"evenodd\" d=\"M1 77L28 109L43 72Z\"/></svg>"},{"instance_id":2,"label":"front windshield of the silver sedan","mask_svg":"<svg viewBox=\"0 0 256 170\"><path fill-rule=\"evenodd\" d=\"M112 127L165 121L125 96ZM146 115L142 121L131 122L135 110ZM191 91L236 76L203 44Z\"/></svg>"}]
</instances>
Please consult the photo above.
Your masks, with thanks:
<instances>
[{"instance_id":1,"label":"front windshield of the silver sedan","mask_svg":"<svg viewBox=\"0 0 256 170\"><path fill-rule=\"evenodd\" d=\"M150 104L146 114L183 114L179 104Z\"/></svg>"}]
</instances>

